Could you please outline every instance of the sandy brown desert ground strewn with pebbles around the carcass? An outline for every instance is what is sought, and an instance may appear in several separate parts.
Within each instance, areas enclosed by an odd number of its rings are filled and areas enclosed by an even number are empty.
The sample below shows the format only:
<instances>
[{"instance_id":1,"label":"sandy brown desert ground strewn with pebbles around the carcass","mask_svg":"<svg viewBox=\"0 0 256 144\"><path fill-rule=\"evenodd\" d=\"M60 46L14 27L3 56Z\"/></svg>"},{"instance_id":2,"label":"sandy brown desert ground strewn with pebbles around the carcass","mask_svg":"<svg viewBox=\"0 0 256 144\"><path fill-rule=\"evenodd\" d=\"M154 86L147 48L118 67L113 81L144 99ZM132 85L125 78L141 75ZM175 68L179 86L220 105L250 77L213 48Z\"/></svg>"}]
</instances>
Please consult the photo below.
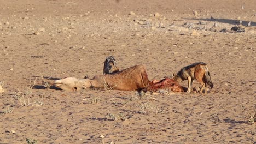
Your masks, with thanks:
<instances>
[{"instance_id":1,"label":"sandy brown desert ground strewn with pebbles around the carcass","mask_svg":"<svg viewBox=\"0 0 256 144\"><path fill-rule=\"evenodd\" d=\"M0 143L255 144L255 8L254 0L0 0ZM245 32L220 32L240 19ZM214 88L138 97L42 86L41 76L102 74L110 55L121 69L145 65L150 80L205 62Z\"/></svg>"}]
</instances>

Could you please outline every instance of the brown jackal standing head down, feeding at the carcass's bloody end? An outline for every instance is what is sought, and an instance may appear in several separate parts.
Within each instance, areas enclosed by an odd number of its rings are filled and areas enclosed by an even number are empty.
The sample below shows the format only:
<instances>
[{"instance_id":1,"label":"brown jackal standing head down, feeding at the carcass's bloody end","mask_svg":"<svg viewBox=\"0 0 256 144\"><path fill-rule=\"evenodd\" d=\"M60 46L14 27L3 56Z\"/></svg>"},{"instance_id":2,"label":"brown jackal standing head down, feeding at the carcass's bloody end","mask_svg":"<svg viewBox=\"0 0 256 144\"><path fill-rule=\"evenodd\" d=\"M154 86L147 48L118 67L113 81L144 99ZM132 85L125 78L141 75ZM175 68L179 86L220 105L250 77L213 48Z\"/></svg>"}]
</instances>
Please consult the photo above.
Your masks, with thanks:
<instances>
[{"instance_id":1,"label":"brown jackal standing head down, feeding at the carcass's bloody end","mask_svg":"<svg viewBox=\"0 0 256 144\"><path fill-rule=\"evenodd\" d=\"M206 63L203 62L193 63L191 65L188 65L187 67L182 68L177 74L173 74L173 79L177 82L188 80L188 93L190 93L191 85L193 84L194 80L197 80L201 83L201 93L203 89L205 89L205 94L207 93L207 85L213 88L213 83L211 80L209 69Z\"/></svg>"}]
</instances>

